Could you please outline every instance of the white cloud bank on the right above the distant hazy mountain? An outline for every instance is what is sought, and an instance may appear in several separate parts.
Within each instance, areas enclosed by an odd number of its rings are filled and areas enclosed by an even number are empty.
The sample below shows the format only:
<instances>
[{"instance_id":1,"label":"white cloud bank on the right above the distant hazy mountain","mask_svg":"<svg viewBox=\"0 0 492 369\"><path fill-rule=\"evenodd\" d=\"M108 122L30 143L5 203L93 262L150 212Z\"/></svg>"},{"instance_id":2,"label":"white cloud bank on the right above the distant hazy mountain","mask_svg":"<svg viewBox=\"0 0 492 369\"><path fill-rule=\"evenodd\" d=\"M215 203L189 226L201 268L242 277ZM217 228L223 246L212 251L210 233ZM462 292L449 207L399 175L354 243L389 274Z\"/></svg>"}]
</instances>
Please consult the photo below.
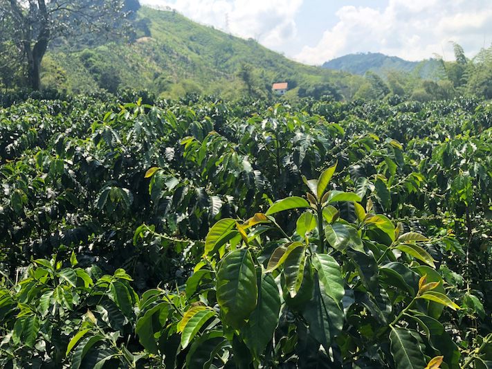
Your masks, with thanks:
<instances>
[{"instance_id":1,"label":"white cloud bank on the right above the distant hazy mountain","mask_svg":"<svg viewBox=\"0 0 492 369\"><path fill-rule=\"evenodd\" d=\"M434 53L453 57L450 41L468 55L492 42L489 0L389 0L379 10L344 6L338 22L323 33L318 44L304 46L295 59L322 64L347 53L365 51L422 60Z\"/></svg>"}]
</instances>

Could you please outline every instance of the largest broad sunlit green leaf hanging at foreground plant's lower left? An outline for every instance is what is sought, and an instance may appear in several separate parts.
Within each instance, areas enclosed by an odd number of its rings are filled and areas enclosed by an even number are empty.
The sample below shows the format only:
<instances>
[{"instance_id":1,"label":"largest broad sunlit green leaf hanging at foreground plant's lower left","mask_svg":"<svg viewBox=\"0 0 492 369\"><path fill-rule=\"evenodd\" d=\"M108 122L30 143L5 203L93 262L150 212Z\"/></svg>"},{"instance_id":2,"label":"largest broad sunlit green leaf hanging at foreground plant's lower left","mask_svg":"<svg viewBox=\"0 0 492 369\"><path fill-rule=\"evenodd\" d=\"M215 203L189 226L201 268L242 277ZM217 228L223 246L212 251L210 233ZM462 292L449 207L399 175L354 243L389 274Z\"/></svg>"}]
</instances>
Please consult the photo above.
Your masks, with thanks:
<instances>
[{"instance_id":1,"label":"largest broad sunlit green leaf hanging at foreground plant's lower left","mask_svg":"<svg viewBox=\"0 0 492 369\"><path fill-rule=\"evenodd\" d=\"M217 271L217 303L224 323L239 328L256 307L258 296L256 271L247 249L231 251Z\"/></svg>"}]
</instances>

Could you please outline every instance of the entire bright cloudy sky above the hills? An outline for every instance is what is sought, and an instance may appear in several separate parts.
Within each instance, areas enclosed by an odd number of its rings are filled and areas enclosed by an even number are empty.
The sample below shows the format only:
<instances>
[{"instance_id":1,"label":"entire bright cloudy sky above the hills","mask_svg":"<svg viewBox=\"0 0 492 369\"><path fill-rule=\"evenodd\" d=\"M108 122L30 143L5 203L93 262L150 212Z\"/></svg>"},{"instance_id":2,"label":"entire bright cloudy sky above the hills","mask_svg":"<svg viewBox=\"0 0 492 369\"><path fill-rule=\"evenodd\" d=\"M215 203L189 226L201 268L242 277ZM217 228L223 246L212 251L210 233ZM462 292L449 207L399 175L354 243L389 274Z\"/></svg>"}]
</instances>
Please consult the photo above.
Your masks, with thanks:
<instances>
[{"instance_id":1,"label":"entire bright cloudy sky above the hills","mask_svg":"<svg viewBox=\"0 0 492 369\"><path fill-rule=\"evenodd\" d=\"M492 0L140 0L306 64L349 53L453 60L492 44Z\"/></svg>"}]
</instances>

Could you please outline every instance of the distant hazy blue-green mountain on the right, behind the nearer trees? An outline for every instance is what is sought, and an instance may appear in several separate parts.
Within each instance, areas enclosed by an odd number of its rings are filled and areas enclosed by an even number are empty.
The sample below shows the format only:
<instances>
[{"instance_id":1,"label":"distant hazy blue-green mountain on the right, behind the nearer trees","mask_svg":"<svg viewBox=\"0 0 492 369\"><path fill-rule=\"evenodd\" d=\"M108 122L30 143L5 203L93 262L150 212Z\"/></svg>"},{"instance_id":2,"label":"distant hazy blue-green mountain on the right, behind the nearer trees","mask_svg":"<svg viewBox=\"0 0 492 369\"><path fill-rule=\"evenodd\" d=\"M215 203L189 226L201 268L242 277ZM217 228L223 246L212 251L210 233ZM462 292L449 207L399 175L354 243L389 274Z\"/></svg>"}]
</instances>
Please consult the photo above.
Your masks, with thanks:
<instances>
[{"instance_id":1,"label":"distant hazy blue-green mountain on the right, behind the nearer trees","mask_svg":"<svg viewBox=\"0 0 492 369\"><path fill-rule=\"evenodd\" d=\"M401 59L401 57L388 56L382 53L357 53L325 62L322 68L357 75L365 75L367 71L372 71L382 77L390 71L397 71L415 74L420 78L438 79L442 71L442 63L437 59L410 62Z\"/></svg>"}]
</instances>

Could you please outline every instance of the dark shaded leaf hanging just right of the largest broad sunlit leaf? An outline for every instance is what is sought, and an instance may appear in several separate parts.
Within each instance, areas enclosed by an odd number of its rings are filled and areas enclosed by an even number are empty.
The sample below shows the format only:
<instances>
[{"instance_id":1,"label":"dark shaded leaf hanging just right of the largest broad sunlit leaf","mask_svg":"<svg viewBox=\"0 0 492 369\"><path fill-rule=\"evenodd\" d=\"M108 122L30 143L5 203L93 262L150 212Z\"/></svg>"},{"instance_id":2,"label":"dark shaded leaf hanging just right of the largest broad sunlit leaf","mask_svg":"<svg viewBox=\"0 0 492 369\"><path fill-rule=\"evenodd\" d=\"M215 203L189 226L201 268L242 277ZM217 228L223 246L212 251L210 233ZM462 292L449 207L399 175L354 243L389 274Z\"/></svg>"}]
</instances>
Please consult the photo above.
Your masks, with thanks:
<instances>
[{"instance_id":1,"label":"dark shaded leaf hanging just right of the largest broad sunlit leaf","mask_svg":"<svg viewBox=\"0 0 492 369\"><path fill-rule=\"evenodd\" d=\"M273 339L280 314L280 294L271 273L257 268L258 303L242 329L244 343L259 358Z\"/></svg>"}]
</instances>

